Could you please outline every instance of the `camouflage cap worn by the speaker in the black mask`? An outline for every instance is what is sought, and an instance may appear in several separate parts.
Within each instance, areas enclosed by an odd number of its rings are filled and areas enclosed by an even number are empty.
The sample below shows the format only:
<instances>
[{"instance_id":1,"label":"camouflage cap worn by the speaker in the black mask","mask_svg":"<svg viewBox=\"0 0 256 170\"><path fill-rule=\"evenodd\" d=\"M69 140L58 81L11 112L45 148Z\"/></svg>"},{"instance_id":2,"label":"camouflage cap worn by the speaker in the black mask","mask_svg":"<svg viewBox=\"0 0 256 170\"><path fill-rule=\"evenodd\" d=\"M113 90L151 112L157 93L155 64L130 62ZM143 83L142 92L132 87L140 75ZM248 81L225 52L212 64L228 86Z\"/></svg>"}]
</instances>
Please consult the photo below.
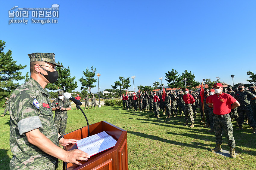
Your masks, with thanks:
<instances>
[{"instance_id":1,"label":"camouflage cap worn by the speaker in the black mask","mask_svg":"<svg viewBox=\"0 0 256 170\"><path fill-rule=\"evenodd\" d=\"M55 54L54 53L32 53L32 54L28 54L28 56L30 58L30 62L45 61L45 62L52 63L58 67L63 67L62 65L55 62Z\"/></svg>"}]
</instances>

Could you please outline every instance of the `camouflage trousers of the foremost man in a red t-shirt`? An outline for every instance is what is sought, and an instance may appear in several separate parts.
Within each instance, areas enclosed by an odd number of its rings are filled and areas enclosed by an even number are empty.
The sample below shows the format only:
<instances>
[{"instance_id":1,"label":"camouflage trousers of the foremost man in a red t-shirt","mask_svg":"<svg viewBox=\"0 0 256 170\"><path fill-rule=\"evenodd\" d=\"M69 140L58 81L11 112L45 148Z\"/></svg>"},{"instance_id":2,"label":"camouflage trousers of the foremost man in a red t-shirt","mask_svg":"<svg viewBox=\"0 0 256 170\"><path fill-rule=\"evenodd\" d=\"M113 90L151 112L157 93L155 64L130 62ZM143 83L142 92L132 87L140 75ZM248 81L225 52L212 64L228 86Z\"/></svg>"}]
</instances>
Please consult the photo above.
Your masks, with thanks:
<instances>
[{"instance_id":1,"label":"camouflage trousers of the foremost man in a red t-shirt","mask_svg":"<svg viewBox=\"0 0 256 170\"><path fill-rule=\"evenodd\" d=\"M213 117L214 130L215 130L215 142L216 144L222 144L222 130L227 134L229 147L236 147L235 139L233 137L233 124L229 114L220 115L221 117Z\"/></svg>"}]
</instances>

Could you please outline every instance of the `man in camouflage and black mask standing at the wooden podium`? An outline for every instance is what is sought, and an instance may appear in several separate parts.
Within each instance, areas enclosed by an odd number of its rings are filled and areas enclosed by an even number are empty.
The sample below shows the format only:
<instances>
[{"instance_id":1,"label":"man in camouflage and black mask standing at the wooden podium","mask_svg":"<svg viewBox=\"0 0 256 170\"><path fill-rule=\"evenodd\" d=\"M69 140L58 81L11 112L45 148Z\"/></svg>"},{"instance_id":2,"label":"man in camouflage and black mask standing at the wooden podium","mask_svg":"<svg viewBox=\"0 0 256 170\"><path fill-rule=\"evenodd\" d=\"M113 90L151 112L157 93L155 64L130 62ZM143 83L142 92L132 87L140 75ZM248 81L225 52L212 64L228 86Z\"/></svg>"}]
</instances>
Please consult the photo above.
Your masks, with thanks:
<instances>
[{"instance_id":1,"label":"man in camouflage and black mask standing at the wooden podium","mask_svg":"<svg viewBox=\"0 0 256 170\"><path fill-rule=\"evenodd\" d=\"M50 108L48 83L58 79L54 53L32 53L30 78L15 89L10 97L10 147L13 157L10 169L54 170L58 159L82 165L90 156L82 150L65 151L59 144L75 144L76 139L65 139L58 133Z\"/></svg>"}]
</instances>

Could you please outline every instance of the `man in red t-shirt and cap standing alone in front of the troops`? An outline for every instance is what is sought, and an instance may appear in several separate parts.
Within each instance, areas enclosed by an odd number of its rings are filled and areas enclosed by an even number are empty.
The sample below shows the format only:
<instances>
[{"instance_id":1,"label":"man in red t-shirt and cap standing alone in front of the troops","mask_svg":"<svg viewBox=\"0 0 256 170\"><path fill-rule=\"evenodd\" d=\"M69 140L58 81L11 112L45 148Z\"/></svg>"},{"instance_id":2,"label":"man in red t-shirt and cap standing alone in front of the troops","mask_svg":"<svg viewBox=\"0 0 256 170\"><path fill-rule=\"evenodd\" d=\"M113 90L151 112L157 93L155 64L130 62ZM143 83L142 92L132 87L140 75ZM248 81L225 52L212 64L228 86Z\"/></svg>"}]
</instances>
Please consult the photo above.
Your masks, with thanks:
<instances>
[{"instance_id":1,"label":"man in red t-shirt and cap standing alone in front of the troops","mask_svg":"<svg viewBox=\"0 0 256 170\"><path fill-rule=\"evenodd\" d=\"M227 134L228 145L230 147L229 154L231 158L236 158L235 153L235 139L233 137L233 125L229 113L231 109L240 106L239 102L236 101L230 94L222 92L222 84L214 84L215 94L209 98L209 106L213 108L213 121L215 131L215 143L216 147L211 149L212 152L221 152L222 144L222 131L224 130ZM232 105L233 104L233 105Z\"/></svg>"}]
</instances>

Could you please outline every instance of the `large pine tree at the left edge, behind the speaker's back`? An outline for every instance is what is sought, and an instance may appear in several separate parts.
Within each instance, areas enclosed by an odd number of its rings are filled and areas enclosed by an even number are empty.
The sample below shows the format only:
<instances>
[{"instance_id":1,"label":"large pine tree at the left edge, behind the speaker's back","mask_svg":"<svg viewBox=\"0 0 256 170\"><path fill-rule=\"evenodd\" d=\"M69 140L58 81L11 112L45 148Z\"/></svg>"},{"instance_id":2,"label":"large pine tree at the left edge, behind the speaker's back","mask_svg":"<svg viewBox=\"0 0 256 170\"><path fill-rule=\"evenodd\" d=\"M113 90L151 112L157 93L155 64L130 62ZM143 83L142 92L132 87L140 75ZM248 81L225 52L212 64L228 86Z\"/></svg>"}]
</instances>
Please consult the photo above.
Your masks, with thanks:
<instances>
[{"instance_id":1,"label":"large pine tree at the left edge, behind the speaker's back","mask_svg":"<svg viewBox=\"0 0 256 170\"><path fill-rule=\"evenodd\" d=\"M11 50L4 53L5 41L0 40L0 101L10 96L11 92L19 86L17 80L24 79L19 70L27 65L17 65L13 60Z\"/></svg>"}]
</instances>

